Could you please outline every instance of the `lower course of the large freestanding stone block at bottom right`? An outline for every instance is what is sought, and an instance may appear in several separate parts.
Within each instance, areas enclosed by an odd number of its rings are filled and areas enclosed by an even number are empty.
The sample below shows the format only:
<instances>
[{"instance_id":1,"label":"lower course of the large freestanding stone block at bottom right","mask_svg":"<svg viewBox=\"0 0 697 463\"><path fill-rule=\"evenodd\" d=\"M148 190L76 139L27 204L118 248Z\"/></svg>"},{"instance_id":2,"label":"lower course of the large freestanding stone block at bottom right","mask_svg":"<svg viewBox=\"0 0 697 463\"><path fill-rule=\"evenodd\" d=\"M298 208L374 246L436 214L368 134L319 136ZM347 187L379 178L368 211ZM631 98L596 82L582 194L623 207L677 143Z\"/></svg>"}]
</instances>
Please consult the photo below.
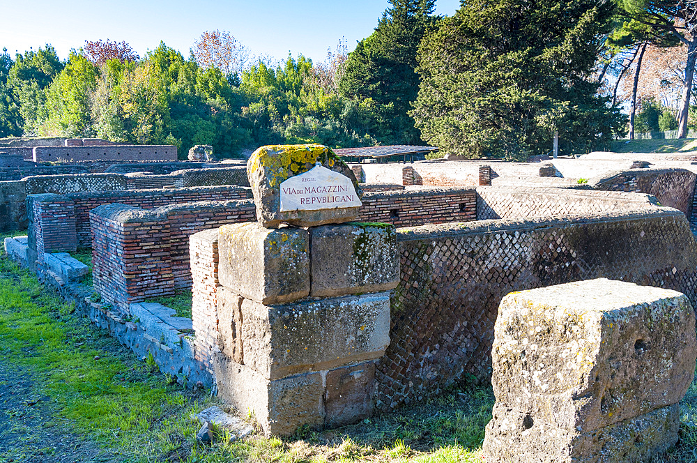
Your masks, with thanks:
<instances>
[{"instance_id":1,"label":"lower course of the large freestanding stone block at bottom right","mask_svg":"<svg viewBox=\"0 0 697 463\"><path fill-rule=\"evenodd\" d=\"M484 437L484 458L501 463L649 462L677 442L679 418L679 406L673 404L598 430L577 432L496 404Z\"/></svg>"}]
</instances>

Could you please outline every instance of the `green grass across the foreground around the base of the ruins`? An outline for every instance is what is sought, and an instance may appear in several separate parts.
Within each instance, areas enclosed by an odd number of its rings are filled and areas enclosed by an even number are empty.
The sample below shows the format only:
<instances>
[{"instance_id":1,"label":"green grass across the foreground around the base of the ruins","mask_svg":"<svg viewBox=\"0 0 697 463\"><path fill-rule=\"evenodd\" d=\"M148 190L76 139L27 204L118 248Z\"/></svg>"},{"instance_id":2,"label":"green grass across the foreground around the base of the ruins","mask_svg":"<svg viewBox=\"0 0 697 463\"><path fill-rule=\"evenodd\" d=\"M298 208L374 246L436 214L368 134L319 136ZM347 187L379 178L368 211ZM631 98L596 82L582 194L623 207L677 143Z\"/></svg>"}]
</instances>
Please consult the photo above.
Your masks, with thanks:
<instances>
[{"instance_id":1,"label":"green grass across the foreground around the base of the ruins","mask_svg":"<svg viewBox=\"0 0 697 463\"><path fill-rule=\"evenodd\" d=\"M209 391L168 381L1 252L0 365L29 372L61 432L114 462L481 463L493 406L490 387L470 386L337 430L201 446L190 414L216 403ZM680 407L680 441L654 463L697 463L697 383ZM20 447L0 462L26 460Z\"/></svg>"}]
</instances>

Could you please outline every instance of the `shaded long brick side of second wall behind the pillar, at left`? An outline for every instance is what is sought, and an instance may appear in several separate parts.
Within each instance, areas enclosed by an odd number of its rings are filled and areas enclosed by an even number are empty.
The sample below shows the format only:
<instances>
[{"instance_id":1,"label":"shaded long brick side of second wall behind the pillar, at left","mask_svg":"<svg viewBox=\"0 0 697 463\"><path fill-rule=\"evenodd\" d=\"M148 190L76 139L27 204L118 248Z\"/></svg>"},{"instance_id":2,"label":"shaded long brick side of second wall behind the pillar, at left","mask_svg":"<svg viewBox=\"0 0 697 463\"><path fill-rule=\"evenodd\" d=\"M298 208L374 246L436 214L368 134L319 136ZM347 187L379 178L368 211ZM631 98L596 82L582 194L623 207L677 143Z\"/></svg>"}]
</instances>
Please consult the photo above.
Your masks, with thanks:
<instances>
[{"instance_id":1,"label":"shaded long brick side of second wall behind the pillar, at left","mask_svg":"<svg viewBox=\"0 0 697 463\"><path fill-rule=\"evenodd\" d=\"M70 193L75 202L75 223L77 243L80 247L89 247L92 243L90 228L90 211L103 204L127 204L144 209L151 209L170 204L185 204L200 201L229 201L252 197L249 188L237 186L217 186L180 188L171 190L127 190L114 192L79 192Z\"/></svg>"}]
</instances>

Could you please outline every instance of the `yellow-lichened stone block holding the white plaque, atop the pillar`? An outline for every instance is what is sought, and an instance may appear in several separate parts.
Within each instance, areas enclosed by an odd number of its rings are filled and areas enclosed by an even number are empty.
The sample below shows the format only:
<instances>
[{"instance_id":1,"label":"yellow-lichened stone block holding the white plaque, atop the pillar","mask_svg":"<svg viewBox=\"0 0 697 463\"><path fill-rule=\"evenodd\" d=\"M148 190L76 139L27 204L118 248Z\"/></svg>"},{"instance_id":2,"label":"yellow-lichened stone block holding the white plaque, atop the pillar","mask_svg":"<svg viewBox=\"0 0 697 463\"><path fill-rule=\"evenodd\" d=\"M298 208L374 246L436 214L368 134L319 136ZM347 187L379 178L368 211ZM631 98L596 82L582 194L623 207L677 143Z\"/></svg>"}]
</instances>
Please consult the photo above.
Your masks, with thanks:
<instances>
[{"instance_id":1,"label":"yellow-lichened stone block holding the white plaque, atop the pillar","mask_svg":"<svg viewBox=\"0 0 697 463\"><path fill-rule=\"evenodd\" d=\"M323 167L348 177L355 190L356 199L360 200L362 192L355 175L348 165L326 146L318 144L261 146L252 153L252 157L247 162L247 176L254 193L256 217L264 227L278 227L282 223L312 227L326 223L348 222L358 215L360 206L327 206L327 208L316 210L282 211L281 183L293 176L308 172L318 162ZM307 183L309 189L318 186L325 185ZM352 194L352 192L348 193ZM334 195L332 192L328 194Z\"/></svg>"}]
</instances>

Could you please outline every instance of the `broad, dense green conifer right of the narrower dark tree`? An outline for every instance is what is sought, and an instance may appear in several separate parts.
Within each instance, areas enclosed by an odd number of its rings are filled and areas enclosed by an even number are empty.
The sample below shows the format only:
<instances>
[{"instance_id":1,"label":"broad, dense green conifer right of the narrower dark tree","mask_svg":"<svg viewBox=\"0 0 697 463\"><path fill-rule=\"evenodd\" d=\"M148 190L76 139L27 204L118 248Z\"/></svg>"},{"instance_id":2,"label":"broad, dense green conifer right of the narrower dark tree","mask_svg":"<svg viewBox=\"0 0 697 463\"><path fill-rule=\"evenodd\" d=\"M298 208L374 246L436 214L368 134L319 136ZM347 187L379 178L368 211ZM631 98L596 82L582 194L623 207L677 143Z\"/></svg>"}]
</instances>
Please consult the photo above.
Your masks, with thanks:
<instances>
[{"instance_id":1,"label":"broad, dense green conifer right of the narrower dark tree","mask_svg":"<svg viewBox=\"0 0 697 463\"><path fill-rule=\"evenodd\" d=\"M555 130L566 151L609 142L624 118L595 96L590 73L612 8L595 0L464 3L420 48L411 114L424 139L469 158L509 160L548 151Z\"/></svg>"}]
</instances>

